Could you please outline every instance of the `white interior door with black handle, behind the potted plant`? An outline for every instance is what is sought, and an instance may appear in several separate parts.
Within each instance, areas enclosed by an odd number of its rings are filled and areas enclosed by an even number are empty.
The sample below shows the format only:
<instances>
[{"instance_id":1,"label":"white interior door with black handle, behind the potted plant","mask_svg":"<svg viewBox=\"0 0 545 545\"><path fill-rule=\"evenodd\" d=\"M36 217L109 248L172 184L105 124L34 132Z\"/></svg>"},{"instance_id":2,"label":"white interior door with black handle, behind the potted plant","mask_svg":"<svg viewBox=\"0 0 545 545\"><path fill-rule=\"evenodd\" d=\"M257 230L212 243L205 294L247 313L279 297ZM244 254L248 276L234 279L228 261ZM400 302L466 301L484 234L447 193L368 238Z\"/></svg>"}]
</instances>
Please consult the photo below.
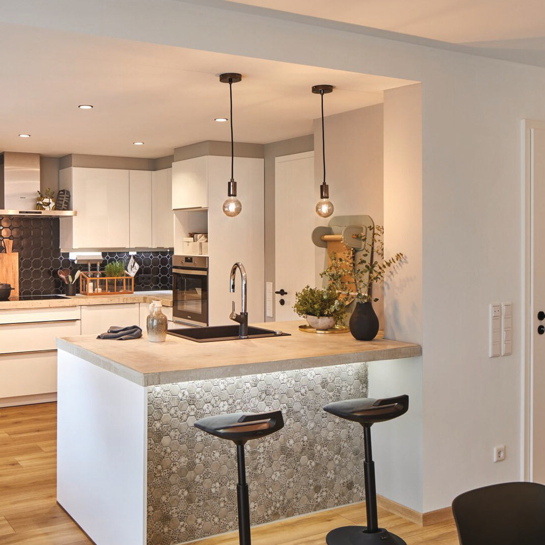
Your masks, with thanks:
<instances>
[{"instance_id":1,"label":"white interior door with black handle, behind the potted plant","mask_svg":"<svg viewBox=\"0 0 545 545\"><path fill-rule=\"evenodd\" d=\"M314 286L314 152L283 155L275 163L275 320L300 319L295 292ZM283 303L283 304L282 304Z\"/></svg>"}]
</instances>

